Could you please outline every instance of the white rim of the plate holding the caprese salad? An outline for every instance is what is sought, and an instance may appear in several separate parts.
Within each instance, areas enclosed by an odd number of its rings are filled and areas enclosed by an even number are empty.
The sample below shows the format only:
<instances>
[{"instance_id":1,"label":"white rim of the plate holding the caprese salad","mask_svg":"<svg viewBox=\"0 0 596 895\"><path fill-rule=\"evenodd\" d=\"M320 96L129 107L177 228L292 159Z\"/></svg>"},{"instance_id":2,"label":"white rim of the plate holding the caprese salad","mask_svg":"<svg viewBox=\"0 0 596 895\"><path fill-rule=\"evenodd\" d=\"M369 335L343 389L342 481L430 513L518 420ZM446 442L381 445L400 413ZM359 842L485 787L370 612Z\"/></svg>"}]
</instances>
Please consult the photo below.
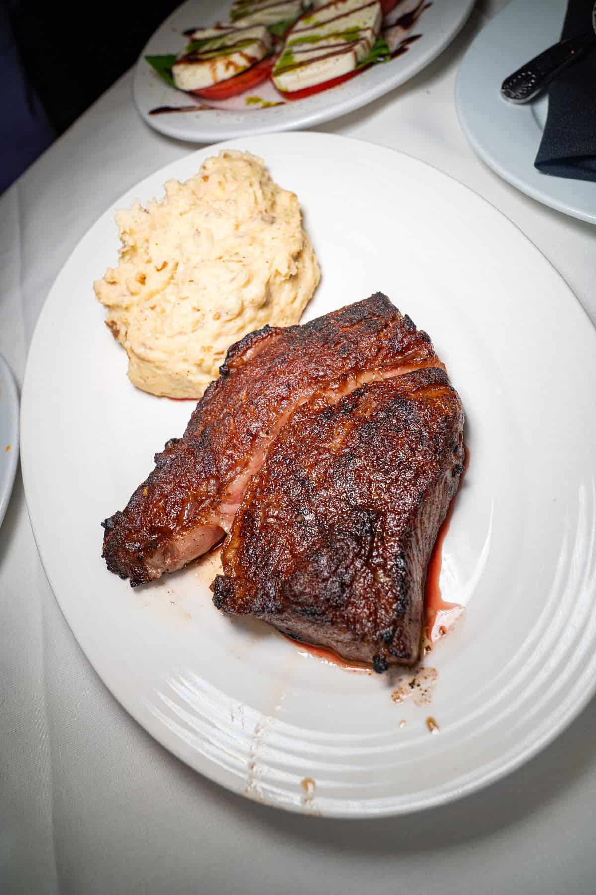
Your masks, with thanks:
<instances>
[{"instance_id":1,"label":"white rim of the plate holding the caprese salad","mask_svg":"<svg viewBox=\"0 0 596 895\"><path fill-rule=\"evenodd\" d=\"M441 2L444 2L444 0L433 0L434 4ZM225 117L223 117L223 115L231 116L231 113L217 113L217 115L211 115L211 113L192 113L194 117L191 119L190 127L187 127L183 121L187 118L187 115L185 114L149 115L149 109L155 107L155 103L147 103L145 98L146 90L143 86L144 70L147 67L144 56L147 55L147 53L150 53L149 47L155 40L155 37L158 36L161 31L170 28L170 21L172 18L177 17L180 14L181 7L179 7L172 13L172 15L162 22L158 29L155 30L154 34L149 38L146 46L143 47L139 55L139 59L135 64L132 86L134 103L143 121L156 131L178 140L196 141L198 143L224 141L242 136L263 135L270 132L312 127L315 124L325 124L340 115L347 115L349 112L354 112L358 108L374 102L375 99L385 96L390 90L394 90L401 84L409 81L410 78L413 78L418 72L431 64L438 55L441 55L443 50L457 37L457 34L466 24L466 21L474 8L474 0L455 0L455 2L458 7L457 17L451 29L445 31L441 38L435 40L434 43L431 42L428 47L426 47L426 44L424 43L423 31L423 39L419 43L413 45L413 47L410 47L404 58L400 58L399 61L401 64L397 67L395 73L393 75L389 73L386 78L382 79L382 81L377 84L374 82L371 83L366 90L356 90L355 87L350 88L350 83L357 84L357 82L360 82L360 86L362 87L361 78L357 78L355 81L348 81L348 84L341 85L340 88L332 90L332 100L323 106L320 106L317 102L315 108L313 108L308 100L301 100L292 103L291 109L289 109L288 106L280 107L278 109L254 109L249 112L238 113L238 115L241 115L241 120L236 124L231 121L227 122ZM432 6L423 13L421 30L424 28L424 21L427 21L424 19L424 16L430 17L432 21L432 16L429 15L430 13L432 13ZM367 72L364 72L364 75L366 73ZM347 90L344 90L344 88ZM180 91L175 90L174 88L169 90L172 90L173 100L180 102L180 97L183 96L180 94ZM339 92L336 92L336 90ZM334 101L333 95L335 96ZM271 115L272 112L282 112L284 114L279 115L280 121L274 121ZM237 118L238 115L234 115L234 117ZM275 115L275 117L278 116ZM210 121L212 121L211 124ZM197 123L197 126L195 126L195 123Z\"/></svg>"}]
</instances>

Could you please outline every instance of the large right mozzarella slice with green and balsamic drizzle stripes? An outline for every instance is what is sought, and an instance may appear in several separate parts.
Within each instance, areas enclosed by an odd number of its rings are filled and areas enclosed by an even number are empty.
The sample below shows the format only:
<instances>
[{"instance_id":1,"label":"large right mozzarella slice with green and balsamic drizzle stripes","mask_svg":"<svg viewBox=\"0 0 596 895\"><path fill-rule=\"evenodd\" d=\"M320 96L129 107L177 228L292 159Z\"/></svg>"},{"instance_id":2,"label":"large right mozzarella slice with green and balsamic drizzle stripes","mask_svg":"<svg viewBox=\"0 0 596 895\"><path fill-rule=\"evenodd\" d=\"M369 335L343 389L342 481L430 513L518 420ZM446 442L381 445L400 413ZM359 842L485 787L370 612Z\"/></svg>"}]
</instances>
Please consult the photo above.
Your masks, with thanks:
<instances>
[{"instance_id":1,"label":"large right mozzarella slice with green and balsamic drizzle stripes","mask_svg":"<svg viewBox=\"0 0 596 895\"><path fill-rule=\"evenodd\" d=\"M273 69L278 90L294 92L353 72L374 46L382 23L379 0L334 0L300 19L286 35Z\"/></svg>"}]
</instances>

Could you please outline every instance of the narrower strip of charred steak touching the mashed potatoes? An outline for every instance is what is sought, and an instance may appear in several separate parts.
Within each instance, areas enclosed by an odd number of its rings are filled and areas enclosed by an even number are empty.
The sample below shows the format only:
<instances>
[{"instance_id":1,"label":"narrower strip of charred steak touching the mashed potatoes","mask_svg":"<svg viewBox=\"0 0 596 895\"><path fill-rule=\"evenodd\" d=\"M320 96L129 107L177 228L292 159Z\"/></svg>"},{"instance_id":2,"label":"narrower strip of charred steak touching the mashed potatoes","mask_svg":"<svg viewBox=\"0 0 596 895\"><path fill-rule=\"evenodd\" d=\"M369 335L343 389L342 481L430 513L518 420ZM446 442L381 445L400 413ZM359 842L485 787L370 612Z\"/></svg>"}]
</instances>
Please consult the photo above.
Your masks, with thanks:
<instances>
[{"instance_id":1,"label":"narrower strip of charred steak touching the mashed potatoes","mask_svg":"<svg viewBox=\"0 0 596 895\"><path fill-rule=\"evenodd\" d=\"M182 438L167 442L124 510L105 519L107 567L134 587L197 558L230 530L264 451L300 402L325 388L339 397L363 371L432 365L441 362L430 338L382 293L302 326L248 334L231 346Z\"/></svg>"}]
</instances>

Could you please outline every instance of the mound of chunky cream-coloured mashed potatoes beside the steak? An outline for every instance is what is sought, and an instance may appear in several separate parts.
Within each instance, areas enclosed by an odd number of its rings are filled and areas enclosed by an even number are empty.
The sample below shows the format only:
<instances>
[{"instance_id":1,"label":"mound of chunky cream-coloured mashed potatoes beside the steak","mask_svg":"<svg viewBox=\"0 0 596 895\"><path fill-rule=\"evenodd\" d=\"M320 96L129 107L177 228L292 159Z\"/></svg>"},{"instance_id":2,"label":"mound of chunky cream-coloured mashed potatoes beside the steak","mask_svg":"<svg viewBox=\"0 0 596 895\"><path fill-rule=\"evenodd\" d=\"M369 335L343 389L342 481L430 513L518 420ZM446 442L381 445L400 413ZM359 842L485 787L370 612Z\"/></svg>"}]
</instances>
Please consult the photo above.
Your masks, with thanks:
<instances>
[{"instance_id":1,"label":"mound of chunky cream-coloured mashed potatoes beside the steak","mask_svg":"<svg viewBox=\"0 0 596 895\"><path fill-rule=\"evenodd\" d=\"M207 158L116 223L120 263L95 291L130 381L153 395L200 397L233 342L297 323L319 282L297 197L249 152Z\"/></svg>"}]
</instances>

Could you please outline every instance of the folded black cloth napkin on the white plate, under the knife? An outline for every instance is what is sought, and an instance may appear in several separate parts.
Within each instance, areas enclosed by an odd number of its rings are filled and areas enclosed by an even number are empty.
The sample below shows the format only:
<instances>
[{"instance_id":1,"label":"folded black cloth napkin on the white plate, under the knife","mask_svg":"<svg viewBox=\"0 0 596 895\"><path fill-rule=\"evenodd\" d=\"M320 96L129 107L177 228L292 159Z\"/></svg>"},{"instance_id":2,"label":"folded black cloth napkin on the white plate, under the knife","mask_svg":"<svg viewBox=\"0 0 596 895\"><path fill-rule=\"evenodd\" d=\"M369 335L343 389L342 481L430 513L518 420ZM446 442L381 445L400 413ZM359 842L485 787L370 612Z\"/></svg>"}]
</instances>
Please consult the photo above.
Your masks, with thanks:
<instances>
[{"instance_id":1,"label":"folded black cloth napkin on the white plate, under the knife","mask_svg":"<svg viewBox=\"0 0 596 895\"><path fill-rule=\"evenodd\" d=\"M569 0L561 38L590 33L592 5L593 0ZM550 84L549 115L534 165L543 174L596 181L596 49Z\"/></svg>"}]
</instances>

